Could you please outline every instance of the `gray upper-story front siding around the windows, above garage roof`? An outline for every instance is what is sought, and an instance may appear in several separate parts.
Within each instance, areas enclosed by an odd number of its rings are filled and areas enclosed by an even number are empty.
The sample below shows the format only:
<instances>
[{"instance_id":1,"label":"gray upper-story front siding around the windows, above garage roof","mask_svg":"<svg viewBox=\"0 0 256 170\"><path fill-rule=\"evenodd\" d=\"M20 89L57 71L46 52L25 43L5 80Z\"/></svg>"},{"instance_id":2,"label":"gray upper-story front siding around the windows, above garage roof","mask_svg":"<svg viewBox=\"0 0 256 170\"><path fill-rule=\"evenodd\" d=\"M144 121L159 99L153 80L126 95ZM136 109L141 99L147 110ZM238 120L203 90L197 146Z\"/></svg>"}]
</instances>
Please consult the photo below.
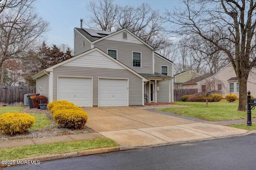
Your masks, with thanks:
<instances>
[{"instance_id":1,"label":"gray upper-story front siding around the windows, above garage roof","mask_svg":"<svg viewBox=\"0 0 256 170\"><path fill-rule=\"evenodd\" d=\"M132 68L132 70L138 73L153 73L153 51L144 44L127 43L104 39L95 43L94 47L98 47L105 53L107 53L107 49L116 49L118 50L118 61L120 61L121 63ZM132 66L132 52L141 53L141 68Z\"/></svg>"}]
</instances>

